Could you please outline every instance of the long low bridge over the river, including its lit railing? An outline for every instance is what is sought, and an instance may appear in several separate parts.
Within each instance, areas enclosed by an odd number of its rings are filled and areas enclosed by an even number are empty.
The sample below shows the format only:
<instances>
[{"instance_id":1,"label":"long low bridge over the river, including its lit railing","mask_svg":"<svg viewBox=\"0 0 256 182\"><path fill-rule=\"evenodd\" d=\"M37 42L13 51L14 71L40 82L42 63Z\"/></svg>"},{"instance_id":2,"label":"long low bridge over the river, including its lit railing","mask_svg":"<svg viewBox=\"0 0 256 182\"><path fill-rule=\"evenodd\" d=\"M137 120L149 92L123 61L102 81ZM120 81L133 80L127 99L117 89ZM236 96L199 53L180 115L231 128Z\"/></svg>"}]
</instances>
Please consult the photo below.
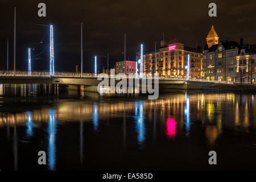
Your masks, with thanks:
<instances>
[{"instance_id":1,"label":"long low bridge over the river, including its lit railing","mask_svg":"<svg viewBox=\"0 0 256 182\"><path fill-rule=\"evenodd\" d=\"M16 71L14 76L11 71L8 73L7 71L0 71L0 84L59 84L68 85L69 89L72 90L80 89L81 86L83 86L85 91L90 92L97 92L97 86L102 80L98 80L94 73L83 73L81 77L80 73L72 72L55 72L55 75L51 76L49 72L35 71L31 72L31 75L28 75L28 72L26 71ZM119 81L120 80L115 79L115 84ZM159 89L163 92L168 92L170 89L201 89L202 86L210 86L214 84L213 81L187 81L185 78L171 77L159 77L158 82ZM141 79L139 80L139 83L139 87L141 88ZM154 85L154 79L152 79L152 84Z\"/></svg>"}]
</instances>

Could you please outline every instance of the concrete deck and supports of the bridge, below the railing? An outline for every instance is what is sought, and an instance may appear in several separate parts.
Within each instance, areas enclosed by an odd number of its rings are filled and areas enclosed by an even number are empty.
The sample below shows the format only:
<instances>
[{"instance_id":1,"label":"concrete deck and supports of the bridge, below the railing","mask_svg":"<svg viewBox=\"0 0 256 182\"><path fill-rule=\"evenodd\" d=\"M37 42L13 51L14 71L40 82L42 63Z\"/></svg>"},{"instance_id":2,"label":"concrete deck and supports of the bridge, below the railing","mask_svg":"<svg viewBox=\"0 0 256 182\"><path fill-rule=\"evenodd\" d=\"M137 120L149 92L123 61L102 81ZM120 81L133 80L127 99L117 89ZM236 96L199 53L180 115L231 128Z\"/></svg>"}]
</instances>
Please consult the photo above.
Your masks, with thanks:
<instances>
[{"instance_id":1,"label":"concrete deck and supports of the bridge, below the railing","mask_svg":"<svg viewBox=\"0 0 256 182\"><path fill-rule=\"evenodd\" d=\"M110 79L110 78L108 78ZM103 78L102 78L103 80ZM44 76L0 76L0 84L59 84L68 85L69 89L76 90L80 86L84 86L85 91L97 92L97 86L102 80L97 77L44 77ZM120 80L115 80L117 84ZM139 79L139 87L141 88L141 79ZM110 82L110 81L109 81ZM170 80L159 78L159 91L168 92L170 89L202 89L203 86L211 86L214 82L205 81L186 81L186 80ZM127 87L129 86L127 81ZM133 79L133 85L135 80ZM154 86L154 79L152 79Z\"/></svg>"}]
</instances>

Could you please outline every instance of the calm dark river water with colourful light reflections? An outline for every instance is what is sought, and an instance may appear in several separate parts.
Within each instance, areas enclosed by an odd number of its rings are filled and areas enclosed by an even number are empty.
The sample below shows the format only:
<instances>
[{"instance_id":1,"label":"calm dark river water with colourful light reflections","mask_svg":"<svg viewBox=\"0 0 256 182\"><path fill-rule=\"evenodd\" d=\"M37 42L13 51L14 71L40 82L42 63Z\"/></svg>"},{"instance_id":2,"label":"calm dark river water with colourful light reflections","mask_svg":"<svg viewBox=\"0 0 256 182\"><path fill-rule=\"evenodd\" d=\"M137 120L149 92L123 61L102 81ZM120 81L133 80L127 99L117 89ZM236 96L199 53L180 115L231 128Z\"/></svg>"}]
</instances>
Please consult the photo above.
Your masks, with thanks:
<instances>
[{"instance_id":1,"label":"calm dark river water with colourful light reflections","mask_svg":"<svg viewBox=\"0 0 256 182\"><path fill-rule=\"evenodd\" d=\"M0 169L255 170L255 97L194 91L147 100L0 84Z\"/></svg>"}]
</instances>

